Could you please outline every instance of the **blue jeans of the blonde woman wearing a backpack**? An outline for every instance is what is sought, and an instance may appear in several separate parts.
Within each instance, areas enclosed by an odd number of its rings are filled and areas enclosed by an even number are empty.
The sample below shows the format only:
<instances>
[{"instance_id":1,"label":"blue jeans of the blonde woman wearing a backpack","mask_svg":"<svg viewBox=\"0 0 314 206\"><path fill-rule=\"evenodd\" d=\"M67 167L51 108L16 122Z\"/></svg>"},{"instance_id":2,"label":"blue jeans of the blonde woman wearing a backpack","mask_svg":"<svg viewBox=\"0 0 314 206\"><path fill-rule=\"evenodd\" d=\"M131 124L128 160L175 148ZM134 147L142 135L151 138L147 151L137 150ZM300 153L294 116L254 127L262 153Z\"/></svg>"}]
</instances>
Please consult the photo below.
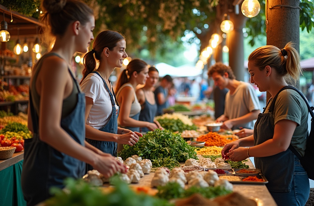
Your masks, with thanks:
<instances>
[{"instance_id":1,"label":"blue jeans of the blonde woman wearing a backpack","mask_svg":"<svg viewBox=\"0 0 314 206\"><path fill-rule=\"evenodd\" d=\"M284 174L283 174L284 175ZM304 206L310 196L310 182L300 160L295 156L291 192L270 192L278 206Z\"/></svg>"}]
</instances>

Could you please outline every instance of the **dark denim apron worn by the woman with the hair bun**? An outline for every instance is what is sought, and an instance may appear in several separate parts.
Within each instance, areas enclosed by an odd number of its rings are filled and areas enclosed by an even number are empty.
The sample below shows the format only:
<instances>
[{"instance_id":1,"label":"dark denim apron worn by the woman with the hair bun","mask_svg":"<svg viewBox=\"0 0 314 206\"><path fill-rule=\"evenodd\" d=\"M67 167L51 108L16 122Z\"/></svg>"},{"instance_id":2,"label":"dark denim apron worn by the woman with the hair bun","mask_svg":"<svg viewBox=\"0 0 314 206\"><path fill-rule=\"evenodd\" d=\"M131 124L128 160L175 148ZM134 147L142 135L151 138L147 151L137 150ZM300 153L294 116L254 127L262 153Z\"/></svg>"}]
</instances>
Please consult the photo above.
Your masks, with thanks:
<instances>
[{"instance_id":1,"label":"dark denim apron worn by the woman with the hair bun","mask_svg":"<svg viewBox=\"0 0 314 206\"><path fill-rule=\"evenodd\" d=\"M72 80L76 82L70 69ZM77 83L77 82L76 82ZM76 84L78 87L78 84ZM61 119L61 127L79 144L84 145L85 137L85 95L78 87L78 101L74 110ZM51 197L51 187L63 188L67 177L81 178L84 162L59 152L42 142L38 133L38 115L30 94L30 112L34 138L25 139L24 162L21 176L22 190L27 205L35 205Z\"/></svg>"}]
</instances>

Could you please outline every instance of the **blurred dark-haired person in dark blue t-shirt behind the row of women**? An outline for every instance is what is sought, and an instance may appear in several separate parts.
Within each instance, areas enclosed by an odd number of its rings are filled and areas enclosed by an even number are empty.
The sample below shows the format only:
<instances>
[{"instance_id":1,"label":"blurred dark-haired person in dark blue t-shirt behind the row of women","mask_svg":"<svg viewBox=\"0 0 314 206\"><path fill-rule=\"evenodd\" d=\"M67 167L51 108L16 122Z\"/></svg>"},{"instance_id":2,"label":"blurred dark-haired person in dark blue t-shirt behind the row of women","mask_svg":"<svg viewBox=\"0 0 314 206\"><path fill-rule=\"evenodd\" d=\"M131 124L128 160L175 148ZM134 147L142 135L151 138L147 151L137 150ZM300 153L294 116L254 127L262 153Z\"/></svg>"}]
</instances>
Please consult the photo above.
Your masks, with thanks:
<instances>
[{"instance_id":1,"label":"blurred dark-haired person in dark blue t-shirt behind the row of women","mask_svg":"<svg viewBox=\"0 0 314 206\"><path fill-rule=\"evenodd\" d=\"M168 90L172 86L172 78L170 75L165 75L160 82L160 86L157 87L154 91L155 101L157 103L157 114L156 116L163 114L163 109L169 107L168 98L172 94L168 92Z\"/></svg>"}]
</instances>

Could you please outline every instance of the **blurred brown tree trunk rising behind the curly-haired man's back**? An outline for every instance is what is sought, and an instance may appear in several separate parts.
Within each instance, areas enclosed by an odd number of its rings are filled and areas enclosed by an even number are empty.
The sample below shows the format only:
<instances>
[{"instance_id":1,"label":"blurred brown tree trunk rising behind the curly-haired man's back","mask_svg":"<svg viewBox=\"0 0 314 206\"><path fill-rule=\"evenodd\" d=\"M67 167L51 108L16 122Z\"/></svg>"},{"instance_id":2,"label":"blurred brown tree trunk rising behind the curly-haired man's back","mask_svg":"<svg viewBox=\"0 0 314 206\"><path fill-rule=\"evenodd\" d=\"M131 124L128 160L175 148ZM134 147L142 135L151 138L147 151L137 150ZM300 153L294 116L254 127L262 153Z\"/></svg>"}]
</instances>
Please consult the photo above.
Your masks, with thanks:
<instances>
[{"instance_id":1,"label":"blurred brown tree trunk rising behind the curly-haired man's back","mask_svg":"<svg viewBox=\"0 0 314 206\"><path fill-rule=\"evenodd\" d=\"M241 12L239 14L230 13L230 20L234 24L234 29L227 34L227 38L229 38L229 66L239 81L244 81L243 28L246 19L247 17Z\"/></svg>"}]
</instances>

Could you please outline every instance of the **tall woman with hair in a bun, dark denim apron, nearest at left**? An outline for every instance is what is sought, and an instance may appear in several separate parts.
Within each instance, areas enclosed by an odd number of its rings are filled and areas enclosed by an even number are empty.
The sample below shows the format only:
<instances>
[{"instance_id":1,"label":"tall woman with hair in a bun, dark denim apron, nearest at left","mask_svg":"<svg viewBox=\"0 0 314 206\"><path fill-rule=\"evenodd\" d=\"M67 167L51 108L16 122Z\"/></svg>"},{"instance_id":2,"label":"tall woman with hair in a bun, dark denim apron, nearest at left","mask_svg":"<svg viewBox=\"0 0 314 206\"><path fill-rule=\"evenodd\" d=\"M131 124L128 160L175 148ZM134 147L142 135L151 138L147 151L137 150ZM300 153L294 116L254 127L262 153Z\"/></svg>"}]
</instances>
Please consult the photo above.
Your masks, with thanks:
<instances>
[{"instance_id":1,"label":"tall woman with hair in a bun, dark denim apron, nearest at left","mask_svg":"<svg viewBox=\"0 0 314 206\"><path fill-rule=\"evenodd\" d=\"M70 69L75 52L87 52L94 39L93 10L77 0L44 0L43 21L55 45L35 64L30 80L28 127L34 137L24 143L21 184L27 205L63 188L67 177L81 178L87 162L110 177L126 168L111 155L84 142L85 98Z\"/></svg>"}]
</instances>

